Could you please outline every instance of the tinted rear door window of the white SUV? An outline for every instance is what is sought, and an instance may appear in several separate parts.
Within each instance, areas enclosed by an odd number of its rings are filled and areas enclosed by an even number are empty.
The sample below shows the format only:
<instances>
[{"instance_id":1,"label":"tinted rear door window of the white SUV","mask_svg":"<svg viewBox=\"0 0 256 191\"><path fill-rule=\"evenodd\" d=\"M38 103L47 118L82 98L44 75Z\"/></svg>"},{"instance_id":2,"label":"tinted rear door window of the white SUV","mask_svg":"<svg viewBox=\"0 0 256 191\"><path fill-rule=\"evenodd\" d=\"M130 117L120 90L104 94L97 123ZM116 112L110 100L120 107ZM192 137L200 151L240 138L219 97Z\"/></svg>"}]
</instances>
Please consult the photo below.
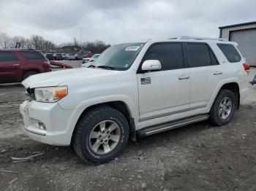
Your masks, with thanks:
<instances>
[{"instance_id":1,"label":"tinted rear door window of the white SUV","mask_svg":"<svg viewBox=\"0 0 256 191\"><path fill-rule=\"evenodd\" d=\"M188 43L187 48L191 67L211 66L211 56L207 44Z\"/></svg>"}]
</instances>

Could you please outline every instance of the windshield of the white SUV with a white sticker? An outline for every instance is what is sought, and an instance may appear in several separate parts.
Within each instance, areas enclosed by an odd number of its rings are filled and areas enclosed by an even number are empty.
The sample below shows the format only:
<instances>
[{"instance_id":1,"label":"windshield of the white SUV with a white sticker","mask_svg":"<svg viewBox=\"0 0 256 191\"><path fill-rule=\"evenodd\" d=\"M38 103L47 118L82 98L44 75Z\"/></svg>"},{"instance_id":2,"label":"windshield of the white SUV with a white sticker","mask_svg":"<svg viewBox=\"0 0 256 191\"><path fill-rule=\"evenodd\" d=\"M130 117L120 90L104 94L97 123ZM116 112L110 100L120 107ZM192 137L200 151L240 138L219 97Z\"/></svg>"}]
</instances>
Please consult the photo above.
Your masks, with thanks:
<instances>
[{"instance_id":1,"label":"windshield of the white SUV with a white sticker","mask_svg":"<svg viewBox=\"0 0 256 191\"><path fill-rule=\"evenodd\" d=\"M144 44L136 42L113 45L94 61L94 66L109 66L115 70L127 70L132 66Z\"/></svg>"}]
</instances>

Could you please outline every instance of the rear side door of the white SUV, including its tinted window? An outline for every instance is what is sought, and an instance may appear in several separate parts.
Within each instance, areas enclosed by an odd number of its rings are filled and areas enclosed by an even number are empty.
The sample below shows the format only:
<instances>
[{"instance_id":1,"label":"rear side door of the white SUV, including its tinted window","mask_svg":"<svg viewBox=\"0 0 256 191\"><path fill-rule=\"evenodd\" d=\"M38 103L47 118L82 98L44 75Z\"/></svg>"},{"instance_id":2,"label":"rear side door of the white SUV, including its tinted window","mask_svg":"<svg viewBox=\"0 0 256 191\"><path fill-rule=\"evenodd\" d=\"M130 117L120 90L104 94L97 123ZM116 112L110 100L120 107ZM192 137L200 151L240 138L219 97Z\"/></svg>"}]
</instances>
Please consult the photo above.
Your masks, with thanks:
<instances>
[{"instance_id":1,"label":"rear side door of the white SUV, including its tinted window","mask_svg":"<svg viewBox=\"0 0 256 191\"><path fill-rule=\"evenodd\" d=\"M208 44L186 45L191 75L190 109L200 109L208 105L217 85L225 78L225 70Z\"/></svg>"}]
</instances>

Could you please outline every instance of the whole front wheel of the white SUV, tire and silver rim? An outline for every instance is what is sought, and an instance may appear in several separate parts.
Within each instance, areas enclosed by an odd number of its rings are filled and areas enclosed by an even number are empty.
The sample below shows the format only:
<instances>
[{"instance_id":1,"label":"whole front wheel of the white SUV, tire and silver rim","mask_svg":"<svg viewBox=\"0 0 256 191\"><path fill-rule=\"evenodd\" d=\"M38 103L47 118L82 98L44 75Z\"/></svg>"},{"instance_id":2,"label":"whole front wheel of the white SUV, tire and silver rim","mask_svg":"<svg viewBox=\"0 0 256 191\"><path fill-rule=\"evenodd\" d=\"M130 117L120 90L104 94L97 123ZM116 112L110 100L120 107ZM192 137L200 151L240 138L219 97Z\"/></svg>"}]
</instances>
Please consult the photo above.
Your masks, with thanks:
<instances>
[{"instance_id":1,"label":"whole front wheel of the white SUV, tire and silver rim","mask_svg":"<svg viewBox=\"0 0 256 191\"><path fill-rule=\"evenodd\" d=\"M73 147L88 163L106 163L124 150L128 138L129 125L124 115L102 106L80 118L73 135Z\"/></svg>"}]
</instances>

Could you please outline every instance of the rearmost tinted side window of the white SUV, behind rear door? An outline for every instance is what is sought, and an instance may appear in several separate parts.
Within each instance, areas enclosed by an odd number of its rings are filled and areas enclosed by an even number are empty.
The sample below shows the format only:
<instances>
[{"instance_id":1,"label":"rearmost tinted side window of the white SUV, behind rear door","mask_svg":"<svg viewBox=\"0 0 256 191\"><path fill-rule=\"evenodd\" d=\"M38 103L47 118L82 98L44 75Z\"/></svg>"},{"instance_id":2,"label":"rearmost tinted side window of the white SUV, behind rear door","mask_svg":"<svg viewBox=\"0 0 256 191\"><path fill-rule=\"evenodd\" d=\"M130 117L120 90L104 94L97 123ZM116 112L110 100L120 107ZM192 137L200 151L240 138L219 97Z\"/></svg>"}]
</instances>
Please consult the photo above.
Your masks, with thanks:
<instances>
[{"instance_id":1,"label":"rearmost tinted side window of the white SUV, behind rear door","mask_svg":"<svg viewBox=\"0 0 256 191\"><path fill-rule=\"evenodd\" d=\"M239 55L233 44L217 44L220 50L230 63L236 63L241 61L241 55Z\"/></svg>"}]
</instances>

